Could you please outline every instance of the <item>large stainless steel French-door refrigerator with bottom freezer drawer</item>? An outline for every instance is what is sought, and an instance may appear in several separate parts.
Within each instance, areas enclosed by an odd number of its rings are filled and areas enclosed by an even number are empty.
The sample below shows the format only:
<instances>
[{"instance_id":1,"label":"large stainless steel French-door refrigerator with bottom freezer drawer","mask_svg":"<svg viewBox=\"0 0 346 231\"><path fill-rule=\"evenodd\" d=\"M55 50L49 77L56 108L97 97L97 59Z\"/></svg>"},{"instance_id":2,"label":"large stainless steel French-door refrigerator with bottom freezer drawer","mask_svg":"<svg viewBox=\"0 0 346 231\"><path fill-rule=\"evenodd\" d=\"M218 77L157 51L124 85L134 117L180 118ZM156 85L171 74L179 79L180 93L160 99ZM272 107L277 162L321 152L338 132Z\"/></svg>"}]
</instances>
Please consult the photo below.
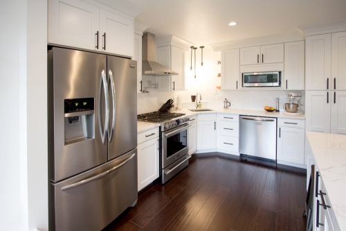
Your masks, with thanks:
<instances>
[{"instance_id":1,"label":"large stainless steel French-door refrigerator with bottom freezer drawer","mask_svg":"<svg viewBox=\"0 0 346 231\"><path fill-rule=\"evenodd\" d=\"M136 205L136 68L111 55L48 51L50 230L101 230Z\"/></svg>"}]
</instances>

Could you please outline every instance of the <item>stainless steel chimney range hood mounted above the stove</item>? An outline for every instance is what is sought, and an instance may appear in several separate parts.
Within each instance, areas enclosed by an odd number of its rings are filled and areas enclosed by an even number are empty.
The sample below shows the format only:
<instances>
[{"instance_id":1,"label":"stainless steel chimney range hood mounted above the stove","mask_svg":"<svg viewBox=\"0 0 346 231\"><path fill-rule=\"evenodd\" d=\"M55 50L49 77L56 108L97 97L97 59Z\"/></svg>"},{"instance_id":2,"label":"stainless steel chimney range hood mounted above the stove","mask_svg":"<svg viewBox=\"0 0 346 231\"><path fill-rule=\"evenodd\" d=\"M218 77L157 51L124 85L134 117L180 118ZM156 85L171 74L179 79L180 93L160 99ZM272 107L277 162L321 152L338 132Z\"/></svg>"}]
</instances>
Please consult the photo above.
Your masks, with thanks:
<instances>
[{"instance_id":1,"label":"stainless steel chimney range hood mounted above the stove","mask_svg":"<svg viewBox=\"0 0 346 231\"><path fill-rule=\"evenodd\" d=\"M155 62L155 35L149 32L142 37L142 75L143 76L167 76L178 75L168 67Z\"/></svg>"}]
</instances>

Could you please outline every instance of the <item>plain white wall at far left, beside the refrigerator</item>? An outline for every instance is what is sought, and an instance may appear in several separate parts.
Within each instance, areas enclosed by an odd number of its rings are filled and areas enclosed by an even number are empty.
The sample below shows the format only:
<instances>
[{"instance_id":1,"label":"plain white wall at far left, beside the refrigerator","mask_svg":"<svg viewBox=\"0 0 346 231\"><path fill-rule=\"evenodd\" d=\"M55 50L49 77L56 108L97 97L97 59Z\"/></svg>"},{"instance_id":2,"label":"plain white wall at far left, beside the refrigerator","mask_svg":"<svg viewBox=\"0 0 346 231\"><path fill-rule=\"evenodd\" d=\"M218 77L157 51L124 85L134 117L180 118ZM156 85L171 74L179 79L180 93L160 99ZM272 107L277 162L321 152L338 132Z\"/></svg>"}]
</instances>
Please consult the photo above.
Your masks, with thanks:
<instances>
[{"instance_id":1,"label":"plain white wall at far left, beside the refrigerator","mask_svg":"<svg viewBox=\"0 0 346 231\"><path fill-rule=\"evenodd\" d=\"M47 1L0 1L0 230L48 230Z\"/></svg>"}]
</instances>

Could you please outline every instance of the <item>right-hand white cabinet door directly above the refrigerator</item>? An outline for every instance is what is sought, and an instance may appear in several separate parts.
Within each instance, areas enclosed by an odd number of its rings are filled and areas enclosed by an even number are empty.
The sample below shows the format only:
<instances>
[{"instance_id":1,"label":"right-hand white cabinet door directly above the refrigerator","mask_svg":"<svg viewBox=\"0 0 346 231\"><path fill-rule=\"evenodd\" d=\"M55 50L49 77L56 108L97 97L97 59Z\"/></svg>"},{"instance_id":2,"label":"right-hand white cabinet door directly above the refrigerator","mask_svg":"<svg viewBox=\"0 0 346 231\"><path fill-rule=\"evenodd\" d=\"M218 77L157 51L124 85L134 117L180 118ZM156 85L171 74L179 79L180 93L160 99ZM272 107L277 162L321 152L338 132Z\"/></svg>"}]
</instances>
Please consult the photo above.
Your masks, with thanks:
<instances>
[{"instance_id":1,"label":"right-hand white cabinet door directly above the refrigerator","mask_svg":"<svg viewBox=\"0 0 346 231\"><path fill-rule=\"evenodd\" d=\"M131 57L134 55L134 22L100 9L101 51Z\"/></svg>"}]
</instances>

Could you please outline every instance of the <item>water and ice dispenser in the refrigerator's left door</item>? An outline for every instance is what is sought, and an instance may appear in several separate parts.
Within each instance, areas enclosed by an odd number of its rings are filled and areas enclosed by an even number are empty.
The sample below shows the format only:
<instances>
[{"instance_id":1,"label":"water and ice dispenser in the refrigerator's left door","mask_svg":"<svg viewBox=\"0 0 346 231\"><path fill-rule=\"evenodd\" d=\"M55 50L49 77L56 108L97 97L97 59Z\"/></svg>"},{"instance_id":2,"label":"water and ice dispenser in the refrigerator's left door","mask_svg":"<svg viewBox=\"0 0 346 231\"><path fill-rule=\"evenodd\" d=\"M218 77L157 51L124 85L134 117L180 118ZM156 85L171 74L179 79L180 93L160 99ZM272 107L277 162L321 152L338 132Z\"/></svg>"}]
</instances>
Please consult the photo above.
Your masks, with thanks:
<instances>
[{"instance_id":1,"label":"water and ice dispenser in the refrigerator's left door","mask_svg":"<svg viewBox=\"0 0 346 231\"><path fill-rule=\"evenodd\" d=\"M95 137L94 99L64 100L65 145Z\"/></svg>"}]
</instances>

